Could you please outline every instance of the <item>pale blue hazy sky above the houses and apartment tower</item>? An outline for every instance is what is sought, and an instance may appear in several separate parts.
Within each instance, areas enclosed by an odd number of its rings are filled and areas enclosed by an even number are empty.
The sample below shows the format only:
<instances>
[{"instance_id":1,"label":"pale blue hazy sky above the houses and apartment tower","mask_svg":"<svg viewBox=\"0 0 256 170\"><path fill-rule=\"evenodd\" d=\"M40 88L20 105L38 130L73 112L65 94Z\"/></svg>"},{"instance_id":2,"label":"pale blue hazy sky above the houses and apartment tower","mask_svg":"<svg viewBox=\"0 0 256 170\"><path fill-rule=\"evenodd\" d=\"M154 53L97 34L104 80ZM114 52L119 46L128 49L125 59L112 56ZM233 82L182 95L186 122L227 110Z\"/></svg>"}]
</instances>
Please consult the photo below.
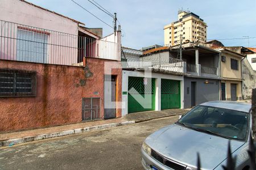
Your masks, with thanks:
<instances>
[{"instance_id":1,"label":"pale blue hazy sky above the houses and apartment tower","mask_svg":"<svg viewBox=\"0 0 256 170\"><path fill-rule=\"evenodd\" d=\"M103 35L113 28L94 18L71 0L27 0L35 5L85 23L86 27L101 27ZM93 6L88 0L74 0L109 25L113 18ZM92 0L91 0L92 1ZM189 10L207 23L207 39L217 39L225 46L256 48L255 0L94 0L114 14L122 28L122 46L141 49L164 44L164 25L177 20L177 11ZM118 23L118 24L119 24ZM221 40L233 39L233 40Z\"/></svg>"}]
</instances>

